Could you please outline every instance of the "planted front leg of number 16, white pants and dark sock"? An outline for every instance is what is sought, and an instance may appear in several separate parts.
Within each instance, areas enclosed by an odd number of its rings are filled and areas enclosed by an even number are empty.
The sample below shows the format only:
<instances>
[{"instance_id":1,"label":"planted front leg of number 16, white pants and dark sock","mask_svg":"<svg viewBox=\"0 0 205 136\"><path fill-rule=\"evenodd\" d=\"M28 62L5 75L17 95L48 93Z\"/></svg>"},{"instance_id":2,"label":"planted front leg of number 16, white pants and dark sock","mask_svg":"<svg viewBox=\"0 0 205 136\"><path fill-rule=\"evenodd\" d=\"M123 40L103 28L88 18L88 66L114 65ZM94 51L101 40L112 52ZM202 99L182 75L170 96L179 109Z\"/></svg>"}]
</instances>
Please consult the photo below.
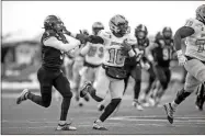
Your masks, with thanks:
<instances>
[{"instance_id":1,"label":"planted front leg of number 16, white pants and dark sock","mask_svg":"<svg viewBox=\"0 0 205 136\"><path fill-rule=\"evenodd\" d=\"M116 80L116 79L111 79L111 80L112 81L110 84L110 92L111 92L112 100L106 105L99 120L94 122L93 128L95 129L106 129L102 125L102 123L115 111L115 109L122 101L123 91L124 91L124 80Z\"/></svg>"}]
</instances>

